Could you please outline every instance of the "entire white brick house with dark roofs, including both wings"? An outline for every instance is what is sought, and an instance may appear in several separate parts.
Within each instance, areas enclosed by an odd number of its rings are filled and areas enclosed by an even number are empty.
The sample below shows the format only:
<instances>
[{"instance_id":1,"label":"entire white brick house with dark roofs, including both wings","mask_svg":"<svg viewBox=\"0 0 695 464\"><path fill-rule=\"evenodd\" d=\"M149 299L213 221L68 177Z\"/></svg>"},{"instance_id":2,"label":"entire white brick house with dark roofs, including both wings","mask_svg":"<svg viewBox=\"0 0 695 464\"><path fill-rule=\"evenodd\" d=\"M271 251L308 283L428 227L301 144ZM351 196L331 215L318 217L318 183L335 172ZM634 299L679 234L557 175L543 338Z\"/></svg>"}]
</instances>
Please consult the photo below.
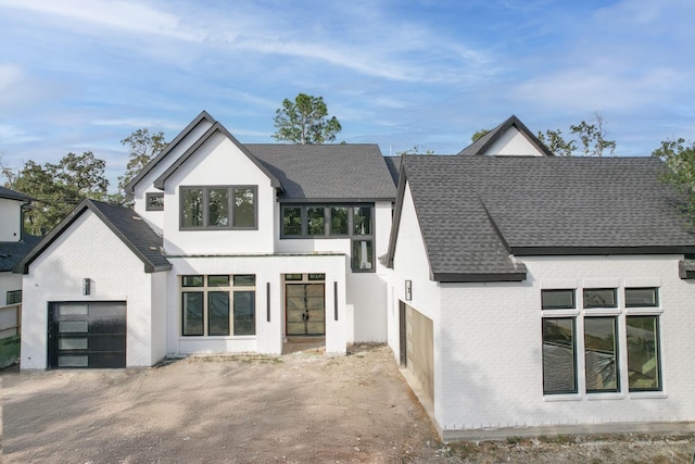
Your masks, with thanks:
<instances>
[{"instance_id":1,"label":"entire white brick house with dark roofs, including both wings","mask_svg":"<svg viewBox=\"0 0 695 464\"><path fill-rule=\"evenodd\" d=\"M203 112L132 210L86 200L15 266L22 368L387 341L445 439L695 421L660 161L555 158L515 116L459 154L242 145Z\"/></svg>"}]
</instances>

